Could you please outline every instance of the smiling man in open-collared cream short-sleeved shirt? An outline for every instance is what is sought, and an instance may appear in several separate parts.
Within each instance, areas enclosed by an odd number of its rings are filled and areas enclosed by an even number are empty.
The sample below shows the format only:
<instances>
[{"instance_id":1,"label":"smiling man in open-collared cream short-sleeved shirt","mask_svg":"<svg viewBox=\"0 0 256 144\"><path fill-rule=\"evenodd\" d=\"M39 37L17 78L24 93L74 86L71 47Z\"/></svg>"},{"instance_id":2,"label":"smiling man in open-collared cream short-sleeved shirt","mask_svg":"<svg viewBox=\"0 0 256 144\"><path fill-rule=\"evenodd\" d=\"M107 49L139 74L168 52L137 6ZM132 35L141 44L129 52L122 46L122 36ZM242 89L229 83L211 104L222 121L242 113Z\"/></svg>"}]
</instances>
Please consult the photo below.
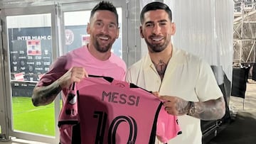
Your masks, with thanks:
<instances>
[{"instance_id":1,"label":"smiling man in open-collared cream short-sleeved shirt","mask_svg":"<svg viewBox=\"0 0 256 144\"><path fill-rule=\"evenodd\" d=\"M169 6L156 1L146 4L140 20L140 34L149 52L129 67L127 82L159 92L167 113L178 116L182 135L167 143L200 144L201 119L220 119L225 114L225 101L213 71L205 60L171 43L176 26Z\"/></svg>"}]
</instances>

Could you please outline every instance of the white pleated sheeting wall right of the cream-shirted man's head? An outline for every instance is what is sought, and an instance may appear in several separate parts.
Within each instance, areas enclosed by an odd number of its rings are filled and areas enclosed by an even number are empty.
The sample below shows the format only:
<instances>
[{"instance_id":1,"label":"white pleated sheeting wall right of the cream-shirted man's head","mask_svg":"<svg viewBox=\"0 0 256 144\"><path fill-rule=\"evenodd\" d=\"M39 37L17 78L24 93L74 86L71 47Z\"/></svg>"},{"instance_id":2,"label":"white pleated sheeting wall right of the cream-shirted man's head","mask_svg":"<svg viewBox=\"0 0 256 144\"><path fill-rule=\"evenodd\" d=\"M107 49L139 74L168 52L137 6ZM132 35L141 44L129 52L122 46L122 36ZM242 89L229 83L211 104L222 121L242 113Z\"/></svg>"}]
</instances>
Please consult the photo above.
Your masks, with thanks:
<instances>
[{"instance_id":1,"label":"white pleated sheeting wall right of the cream-shirted man's head","mask_svg":"<svg viewBox=\"0 0 256 144\"><path fill-rule=\"evenodd\" d=\"M166 0L173 12L176 34L173 42L210 65L222 67L232 81L233 0Z\"/></svg>"}]
</instances>

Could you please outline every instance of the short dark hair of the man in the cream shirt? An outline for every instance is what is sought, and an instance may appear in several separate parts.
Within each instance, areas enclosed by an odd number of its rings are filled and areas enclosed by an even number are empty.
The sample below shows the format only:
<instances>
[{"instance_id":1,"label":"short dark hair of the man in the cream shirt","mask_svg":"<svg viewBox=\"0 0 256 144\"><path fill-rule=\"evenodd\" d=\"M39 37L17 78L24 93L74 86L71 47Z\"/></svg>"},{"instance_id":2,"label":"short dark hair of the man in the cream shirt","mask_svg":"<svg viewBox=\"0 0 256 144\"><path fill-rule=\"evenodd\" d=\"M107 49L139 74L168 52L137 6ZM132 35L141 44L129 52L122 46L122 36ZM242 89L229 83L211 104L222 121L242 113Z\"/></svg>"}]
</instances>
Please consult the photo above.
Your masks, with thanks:
<instances>
[{"instance_id":1,"label":"short dark hair of the man in the cream shirt","mask_svg":"<svg viewBox=\"0 0 256 144\"><path fill-rule=\"evenodd\" d=\"M168 15L169 15L170 21L172 21L171 9L169 8L169 6L167 6L164 3L155 1L155 2L151 2L149 4L146 4L146 6L143 7L142 12L140 14L141 23L143 23L143 21L144 21L144 13L146 13L147 11L153 11L153 10L157 10L157 9L163 9L164 11L166 11L166 13L168 13Z\"/></svg>"}]
</instances>

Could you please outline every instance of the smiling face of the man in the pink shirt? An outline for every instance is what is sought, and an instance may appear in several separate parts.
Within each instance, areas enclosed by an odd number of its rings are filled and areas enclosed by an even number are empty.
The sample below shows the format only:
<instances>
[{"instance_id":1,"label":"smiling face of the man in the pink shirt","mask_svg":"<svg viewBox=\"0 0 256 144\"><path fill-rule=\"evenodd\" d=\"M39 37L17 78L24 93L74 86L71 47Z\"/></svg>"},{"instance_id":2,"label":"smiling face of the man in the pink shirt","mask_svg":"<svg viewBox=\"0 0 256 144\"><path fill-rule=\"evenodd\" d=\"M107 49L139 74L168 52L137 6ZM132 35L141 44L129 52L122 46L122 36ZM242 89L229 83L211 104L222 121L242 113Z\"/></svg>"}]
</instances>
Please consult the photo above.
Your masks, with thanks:
<instances>
[{"instance_id":1,"label":"smiling face of the man in the pink shirt","mask_svg":"<svg viewBox=\"0 0 256 144\"><path fill-rule=\"evenodd\" d=\"M111 11L96 11L87 25L90 43L98 52L108 52L114 40L118 38L117 18Z\"/></svg>"}]
</instances>

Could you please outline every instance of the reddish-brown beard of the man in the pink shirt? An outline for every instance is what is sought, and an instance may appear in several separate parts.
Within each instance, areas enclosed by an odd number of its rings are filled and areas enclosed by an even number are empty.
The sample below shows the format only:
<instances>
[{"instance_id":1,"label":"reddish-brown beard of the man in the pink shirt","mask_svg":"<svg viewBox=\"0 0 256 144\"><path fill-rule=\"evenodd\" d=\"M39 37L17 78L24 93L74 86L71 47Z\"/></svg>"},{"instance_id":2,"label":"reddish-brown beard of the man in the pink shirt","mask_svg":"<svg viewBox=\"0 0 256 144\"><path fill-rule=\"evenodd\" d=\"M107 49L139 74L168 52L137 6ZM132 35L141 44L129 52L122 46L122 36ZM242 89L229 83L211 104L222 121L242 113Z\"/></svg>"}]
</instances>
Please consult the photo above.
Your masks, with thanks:
<instances>
[{"instance_id":1,"label":"reddish-brown beard of the man in the pink shirt","mask_svg":"<svg viewBox=\"0 0 256 144\"><path fill-rule=\"evenodd\" d=\"M96 50L98 52L107 52L108 50L110 50L112 48L112 44L114 43L114 40L111 40L110 43L108 43L107 45L100 45L99 40L97 40L98 37L100 37L101 35L96 35L96 38L94 37L93 39L93 46L96 48ZM111 37L109 35L107 35L108 38L111 39Z\"/></svg>"}]
</instances>

